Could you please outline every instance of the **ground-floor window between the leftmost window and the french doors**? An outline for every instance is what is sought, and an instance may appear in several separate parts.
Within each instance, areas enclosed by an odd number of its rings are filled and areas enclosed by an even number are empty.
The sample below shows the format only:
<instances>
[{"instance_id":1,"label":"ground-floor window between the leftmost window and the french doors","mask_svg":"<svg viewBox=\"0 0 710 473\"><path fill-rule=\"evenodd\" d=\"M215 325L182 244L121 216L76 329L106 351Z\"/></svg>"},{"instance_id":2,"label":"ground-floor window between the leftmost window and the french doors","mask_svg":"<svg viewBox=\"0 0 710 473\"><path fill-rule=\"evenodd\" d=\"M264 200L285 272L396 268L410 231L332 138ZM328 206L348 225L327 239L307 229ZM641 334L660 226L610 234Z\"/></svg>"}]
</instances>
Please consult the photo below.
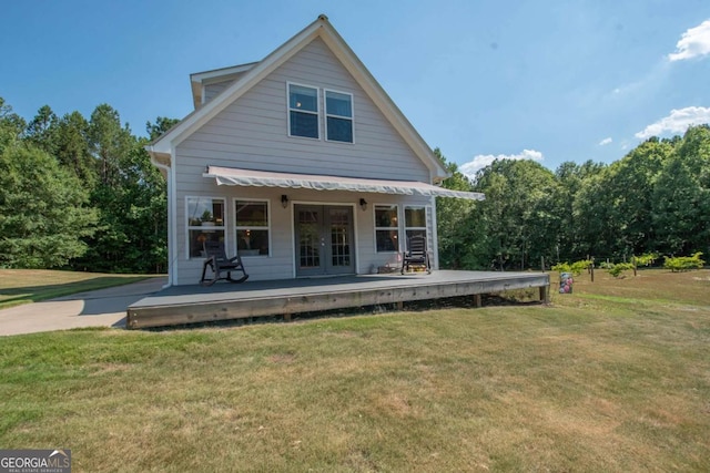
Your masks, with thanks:
<instances>
[{"instance_id":1,"label":"ground-floor window between the leftmost window and the french doors","mask_svg":"<svg viewBox=\"0 0 710 473\"><path fill-rule=\"evenodd\" d=\"M268 256L268 202L234 200L236 253L240 256Z\"/></svg>"}]
</instances>

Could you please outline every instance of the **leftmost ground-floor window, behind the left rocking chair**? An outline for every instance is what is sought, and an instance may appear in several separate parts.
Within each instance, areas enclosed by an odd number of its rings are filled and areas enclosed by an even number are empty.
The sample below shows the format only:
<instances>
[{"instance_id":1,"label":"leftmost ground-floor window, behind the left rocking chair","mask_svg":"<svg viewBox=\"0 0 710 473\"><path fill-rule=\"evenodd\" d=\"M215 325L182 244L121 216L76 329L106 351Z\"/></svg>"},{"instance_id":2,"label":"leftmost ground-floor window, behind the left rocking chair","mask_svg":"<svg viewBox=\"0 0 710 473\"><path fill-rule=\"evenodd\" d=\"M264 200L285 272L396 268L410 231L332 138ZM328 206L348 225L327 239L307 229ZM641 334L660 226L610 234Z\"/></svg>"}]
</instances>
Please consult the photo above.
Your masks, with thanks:
<instances>
[{"instance_id":1,"label":"leftmost ground-floor window, behind the left rocking chair","mask_svg":"<svg viewBox=\"0 0 710 473\"><path fill-rule=\"evenodd\" d=\"M187 256L204 257L204 243L224 244L224 199L187 197Z\"/></svg>"}]
</instances>

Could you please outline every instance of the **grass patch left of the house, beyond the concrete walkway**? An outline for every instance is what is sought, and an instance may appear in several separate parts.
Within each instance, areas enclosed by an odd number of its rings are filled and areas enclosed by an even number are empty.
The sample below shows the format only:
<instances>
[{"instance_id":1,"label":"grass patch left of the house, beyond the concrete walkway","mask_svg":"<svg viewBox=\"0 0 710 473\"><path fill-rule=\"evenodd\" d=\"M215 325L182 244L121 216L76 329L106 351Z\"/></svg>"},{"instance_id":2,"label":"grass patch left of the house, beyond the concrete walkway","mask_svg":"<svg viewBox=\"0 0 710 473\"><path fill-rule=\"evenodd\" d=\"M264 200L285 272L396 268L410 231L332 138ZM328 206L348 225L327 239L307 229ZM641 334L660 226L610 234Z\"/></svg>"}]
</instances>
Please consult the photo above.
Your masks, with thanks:
<instances>
[{"instance_id":1,"label":"grass patch left of the house, beyond the concrete walkway","mask_svg":"<svg viewBox=\"0 0 710 473\"><path fill-rule=\"evenodd\" d=\"M148 277L45 269L0 269L0 309L136 282Z\"/></svg>"}]
</instances>

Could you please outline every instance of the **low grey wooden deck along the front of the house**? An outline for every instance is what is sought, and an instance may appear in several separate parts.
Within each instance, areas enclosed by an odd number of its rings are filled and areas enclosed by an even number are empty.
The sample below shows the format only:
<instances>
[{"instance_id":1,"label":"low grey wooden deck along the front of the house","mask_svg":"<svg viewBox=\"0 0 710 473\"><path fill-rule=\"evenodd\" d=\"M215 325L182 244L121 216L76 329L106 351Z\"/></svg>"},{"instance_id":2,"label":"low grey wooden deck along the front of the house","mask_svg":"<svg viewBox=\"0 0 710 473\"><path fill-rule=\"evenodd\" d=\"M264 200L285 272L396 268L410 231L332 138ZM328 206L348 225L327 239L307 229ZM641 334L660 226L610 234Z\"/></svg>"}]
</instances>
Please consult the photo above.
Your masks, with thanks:
<instances>
[{"instance_id":1,"label":"low grey wooden deck along the front of the house","mask_svg":"<svg viewBox=\"0 0 710 473\"><path fill-rule=\"evenodd\" d=\"M398 304L412 300L471 296L508 289L539 288L548 300L545 273L440 270L410 275L366 275L275 281L220 282L212 287L175 286L128 308L126 327L140 329L248 317Z\"/></svg>"}]
</instances>

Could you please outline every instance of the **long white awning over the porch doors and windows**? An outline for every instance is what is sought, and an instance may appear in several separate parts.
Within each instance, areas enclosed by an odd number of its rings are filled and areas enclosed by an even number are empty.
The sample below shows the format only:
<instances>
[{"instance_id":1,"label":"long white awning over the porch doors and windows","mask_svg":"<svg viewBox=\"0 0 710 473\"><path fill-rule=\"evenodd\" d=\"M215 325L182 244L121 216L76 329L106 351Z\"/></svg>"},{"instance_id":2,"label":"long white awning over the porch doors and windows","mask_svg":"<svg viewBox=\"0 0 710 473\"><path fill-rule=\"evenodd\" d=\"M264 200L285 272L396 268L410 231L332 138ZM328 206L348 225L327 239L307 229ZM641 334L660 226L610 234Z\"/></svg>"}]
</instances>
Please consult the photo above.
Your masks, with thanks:
<instances>
[{"instance_id":1,"label":"long white awning over the porch doors and windows","mask_svg":"<svg viewBox=\"0 0 710 473\"><path fill-rule=\"evenodd\" d=\"M378 194L423 195L483 200L477 192L452 191L417 181L384 181L318 174L288 174L267 171L207 166L204 177L214 177L217 185L251 187L306 188L313 191L351 191Z\"/></svg>"}]
</instances>

